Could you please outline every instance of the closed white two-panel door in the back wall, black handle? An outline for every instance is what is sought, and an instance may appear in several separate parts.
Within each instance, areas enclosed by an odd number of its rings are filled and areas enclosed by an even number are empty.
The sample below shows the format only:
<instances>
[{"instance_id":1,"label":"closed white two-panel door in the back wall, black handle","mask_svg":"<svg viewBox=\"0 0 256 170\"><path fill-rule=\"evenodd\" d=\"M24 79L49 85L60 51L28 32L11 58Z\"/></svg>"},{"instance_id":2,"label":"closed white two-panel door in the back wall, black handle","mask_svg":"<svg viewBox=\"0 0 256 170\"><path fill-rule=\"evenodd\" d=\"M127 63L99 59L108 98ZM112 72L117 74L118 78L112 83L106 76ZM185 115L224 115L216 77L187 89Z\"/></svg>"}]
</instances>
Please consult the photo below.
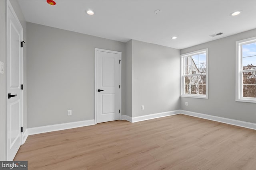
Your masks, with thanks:
<instances>
[{"instance_id":1,"label":"closed white two-panel door in the back wall, black handle","mask_svg":"<svg viewBox=\"0 0 256 170\"><path fill-rule=\"evenodd\" d=\"M96 123L121 117L121 52L95 49Z\"/></svg>"}]
</instances>

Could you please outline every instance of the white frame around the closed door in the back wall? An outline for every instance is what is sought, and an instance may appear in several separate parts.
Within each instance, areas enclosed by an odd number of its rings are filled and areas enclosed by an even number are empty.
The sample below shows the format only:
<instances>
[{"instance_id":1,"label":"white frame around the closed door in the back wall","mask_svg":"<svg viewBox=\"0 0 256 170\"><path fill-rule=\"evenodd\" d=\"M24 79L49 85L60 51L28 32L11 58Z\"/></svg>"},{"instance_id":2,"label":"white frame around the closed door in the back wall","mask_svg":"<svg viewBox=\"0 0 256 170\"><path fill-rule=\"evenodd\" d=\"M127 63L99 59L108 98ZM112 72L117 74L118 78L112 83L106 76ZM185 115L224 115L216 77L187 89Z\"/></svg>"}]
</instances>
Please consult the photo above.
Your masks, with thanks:
<instances>
[{"instance_id":1,"label":"white frame around the closed door in the back wall","mask_svg":"<svg viewBox=\"0 0 256 170\"><path fill-rule=\"evenodd\" d=\"M119 120L121 120L121 116L122 116L122 52L94 48L94 124L95 125L97 124L97 51L119 54L119 57L120 57L120 64L119 64L119 84L120 84Z\"/></svg>"}]
</instances>

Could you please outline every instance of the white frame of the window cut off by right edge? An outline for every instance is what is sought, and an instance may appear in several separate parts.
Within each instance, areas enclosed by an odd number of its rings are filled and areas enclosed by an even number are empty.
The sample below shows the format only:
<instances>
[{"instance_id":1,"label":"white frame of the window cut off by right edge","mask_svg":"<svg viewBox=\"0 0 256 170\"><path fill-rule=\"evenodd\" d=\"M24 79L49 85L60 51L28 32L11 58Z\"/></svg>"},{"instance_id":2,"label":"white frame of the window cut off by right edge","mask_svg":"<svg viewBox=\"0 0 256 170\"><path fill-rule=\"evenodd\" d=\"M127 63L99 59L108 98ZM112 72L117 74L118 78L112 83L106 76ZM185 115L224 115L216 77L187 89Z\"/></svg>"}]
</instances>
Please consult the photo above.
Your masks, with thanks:
<instances>
[{"instance_id":1,"label":"white frame of the window cut off by right edge","mask_svg":"<svg viewBox=\"0 0 256 170\"><path fill-rule=\"evenodd\" d=\"M242 68L242 45L256 42L256 37L236 41L236 102L256 103L256 98L243 96L243 72L256 71L256 69L243 70Z\"/></svg>"}]
</instances>

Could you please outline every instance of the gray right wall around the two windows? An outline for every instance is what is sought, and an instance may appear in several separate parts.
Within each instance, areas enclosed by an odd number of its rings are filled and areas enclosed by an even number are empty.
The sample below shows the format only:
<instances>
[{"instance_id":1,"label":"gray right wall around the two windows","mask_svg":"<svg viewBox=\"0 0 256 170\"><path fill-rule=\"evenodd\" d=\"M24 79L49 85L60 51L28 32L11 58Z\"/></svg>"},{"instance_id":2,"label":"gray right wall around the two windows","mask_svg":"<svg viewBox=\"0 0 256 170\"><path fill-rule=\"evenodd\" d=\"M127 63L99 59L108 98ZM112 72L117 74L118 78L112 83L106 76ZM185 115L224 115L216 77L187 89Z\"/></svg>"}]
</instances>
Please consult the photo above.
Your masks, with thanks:
<instances>
[{"instance_id":1,"label":"gray right wall around the two windows","mask_svg":"<svg viewBox=\"0 0 256 170\"><path fill-rule=\"evenodd\" d=\"M181 98L181 109L256 123L256 105L235 101L236 41L255 37L256 29L181 50L208 48L208 99ZM188 106L185 106L188 102Z\"/></svg>"}]
</instances>

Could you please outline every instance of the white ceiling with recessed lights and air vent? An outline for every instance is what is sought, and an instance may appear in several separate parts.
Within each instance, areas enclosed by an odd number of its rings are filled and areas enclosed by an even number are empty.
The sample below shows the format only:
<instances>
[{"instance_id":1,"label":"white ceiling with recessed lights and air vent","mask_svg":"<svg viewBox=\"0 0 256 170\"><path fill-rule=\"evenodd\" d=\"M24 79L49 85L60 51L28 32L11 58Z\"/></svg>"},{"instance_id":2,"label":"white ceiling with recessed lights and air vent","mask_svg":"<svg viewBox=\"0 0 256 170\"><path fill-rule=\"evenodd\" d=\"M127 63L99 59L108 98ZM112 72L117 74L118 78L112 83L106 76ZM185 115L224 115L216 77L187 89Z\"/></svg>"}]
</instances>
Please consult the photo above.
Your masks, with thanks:
<instances>
[{"instance_id":1,"label":"white ceiling with recessed lights and air vent","mask_svg":"<svg viewBox=\"0 0 256 170\"><path fill-rule=\"evenodd\" d=\"M28 22L176 49L256 28L256 0L55 0L55 6L46 0L18 2ZM87 15L87 9L95 15ZM154 14L158 9L162 12ZM237 10L242 13L230 16ZM224 34L209 36L219 32Z\"/></svg>"}]
</instances>

